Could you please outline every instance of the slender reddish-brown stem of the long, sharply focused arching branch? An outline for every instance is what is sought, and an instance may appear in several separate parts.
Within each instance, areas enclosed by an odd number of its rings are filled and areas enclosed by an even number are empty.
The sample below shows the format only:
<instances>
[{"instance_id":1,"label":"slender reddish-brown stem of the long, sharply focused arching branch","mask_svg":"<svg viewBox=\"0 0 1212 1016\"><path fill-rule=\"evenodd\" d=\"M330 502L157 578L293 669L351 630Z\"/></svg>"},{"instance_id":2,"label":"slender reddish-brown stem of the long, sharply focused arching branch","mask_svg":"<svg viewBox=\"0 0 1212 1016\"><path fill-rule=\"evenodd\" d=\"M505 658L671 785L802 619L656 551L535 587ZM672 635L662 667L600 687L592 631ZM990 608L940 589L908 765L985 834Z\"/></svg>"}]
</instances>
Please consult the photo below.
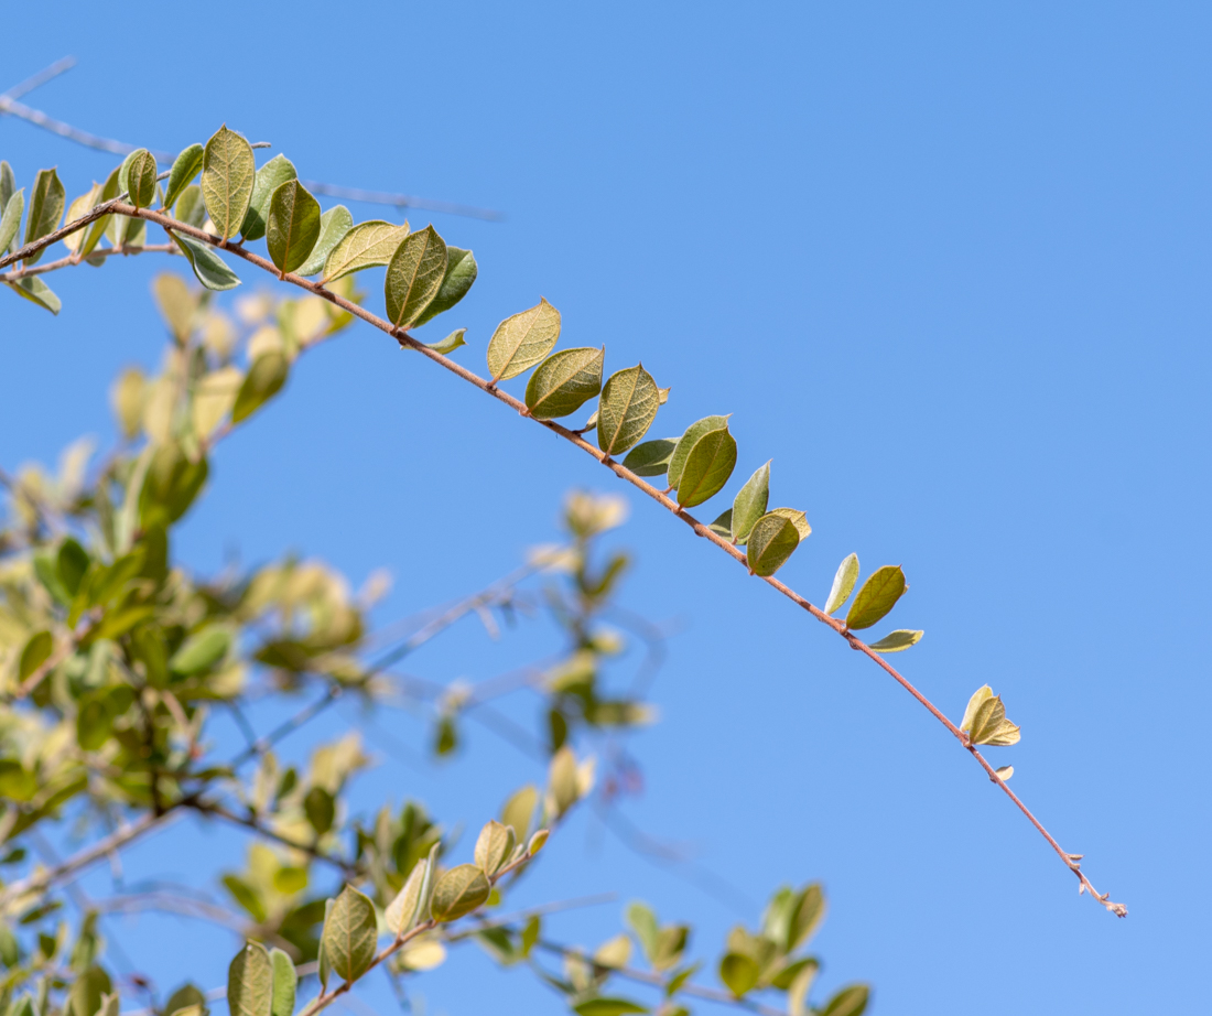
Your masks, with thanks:
<instances>
[{"instance_id":1,"label":"slender reddish-brown stem of the long, sharply focused arching branch","mask_svg":"<svg viewBox=\"0 0 1212 1016\"><path fill-rule=\"evenodd\" d=\"M636 490L651 497L670 514L681 519L687 526L691 527L691 530L694 532L696 536L702 537L709 543L714 543L720 550L722 550L725 554L731 556L737 564L742 565L747 571L749 571L748 559L745 558L745 554L742 550L739 550L737 547L734 547L731 542L728 542L724 537L713 532L703 523L698 521L698 519L696 519L693 515L686 512L686 509L681 508L665 492L657 490L654 486L646 483L644 479L638 476L630 469L627 469L624 466L622 466L622 463L616 462L613 458L602 452L600 449L585 441L584 438L582 438L574 430L570 430L567 427L564 427L562 424L556 423L555 421L534 418L527 411L525 403L520 401L519 399L515 399L507 392L502 392L491 381L480 377L474 371L470 371L467 367L464 367L462 364L458 364L454 360L444 356L441 353L438 353L436 350L425 346L423 342L413 338L406 331L398 329L390 321L384 321L382 318L377 316L376 314L372 314L364 307L360 307L359 304L353 303L351 301L345 299L344 297L341 297L337 293L331 292L330 290L326 290L319 282L314 282L310 279L304 279L303 276L296 275L291 272L280 273L278 268L273 264L273 262L268 261L267 258L252 253L251 251L247 251L244 247L230 245L229 242L210 233L206 233L205 230L198 229L183 222L177 222L176 219L170 218L162 212L153 211L150 209L136 209L131 205L121 205L121 204L116 205L114 207L114 211L120 215L144 218L148 222L154 222L158 226L164 227L167 230L175 230L182 233L183 235L191 236L196 240L201 240L202 242L210 244L213 247L227 251L228 253L242 258L244 261L256 266L257 268L273 273L273 275L276 276L280 281L290 282L293 286L315 293L316 296L327 299L330 303L341 307L347 313L353 314L355 318L360 318L367 324L373 325L379 331L385 332L387 335L390 335L393 338L395 338L396 342L400 343L401 348L412 349L417 353L421 353L423 356L428 356L439 366L445 367L447 371L456 375L461 379L465 381L468 384L479 388L481 392L491 395L497 401L503 403L509 409L514 410L519 416L530 419L532 423L536 423L539 427L544 427L551 433L564 438L566 441L576 445L585 455L590 456L596 462L610 469L616 476L631 484L631 486L634 486ZM63 230L58 232L62 233ZM68 232L70 232L70 229L68 229ZM17 255L12 255L11 257L12 258L17 258L18 256L27 257L29 253L33 253L35 250L40 250L41 246L46 245L47 245L47 238L42 238L42 240L39 240L32 245L27 245L27 249L18 251ZM2 267L5 263L6 261L0 259L0 267ZM1046 829L1039 822L1039 820L1027 809L1027 806L1018 799L1018 797L1010 789L1010 787L1006 786L1006 782L1001 777L999 777L996 772L993 770L993 767L984 760L984 758L972 748L971 743L968 742L967 735L965 735L954 723L951 723L951 720L949 720L942 713L942 710L939 710L938 707L936 707L925 695L922 695L916 687L914 687L914 685L903 674L901 674L894 667L892 667L886 660L884 660L880 653L877 653L869 645L867 645L867 643L859 639L858 635L856 635L852 630L850 630L844 621L839 621L837 618L829 616L823 610L814 606L806 598L801 597L794 589L785 586L783 582L774 578L773 576L754 576L753 572L749 573L751 577L756 577L760 581L765 582L767 586L771 586L772 588L777 589L779 593L782 593L784 597L791 600L791 603L796 604L797 606L807 611L812 617L819 621L822 624L825 624L827 627L831 628L836 634L841 635L850 644L852 649L862 652L863 655L873 660L893 680L896 680L897 684L899 684L905 691L908 691L914 698L916 698L917 702L927 712L930 712L932 717L934 717L934 719L937 719L941 724L943 724L944 727L947 727L947 730L960 742L960 744L966 750L970 750L973 754L973 757L982 765L982 767L988 774L990 774L990 778L999 787L1001 787L1001 789L1014 803L1014 805L1019 809L1019 811L1022 811L1023 815L1031 822L1031 824L1035 826L1035 828L1044 835L1050 846L1052 846L1052 849L1056 850L1057 855L1064 862L1065 867L1070 872L1073 872L1074 875L1076 875L1081 887L1084 890L1088 890L1091 895L1096 900L1098 900L1110 913L1115 914L1116 917L1127 915L1127 908L1122 903L1113 903L1109 900L1109 895L1099 894L1094 890L1094 886L1087 879L1086 874L1081 871L1080 864L1077 864L1077 862L1074 860L1077 855L1068 854L1059 846L1059 844L1057 844L1056 839L1053 839L1052 835L1046 832Z\"/></svg>"}]
</instances>

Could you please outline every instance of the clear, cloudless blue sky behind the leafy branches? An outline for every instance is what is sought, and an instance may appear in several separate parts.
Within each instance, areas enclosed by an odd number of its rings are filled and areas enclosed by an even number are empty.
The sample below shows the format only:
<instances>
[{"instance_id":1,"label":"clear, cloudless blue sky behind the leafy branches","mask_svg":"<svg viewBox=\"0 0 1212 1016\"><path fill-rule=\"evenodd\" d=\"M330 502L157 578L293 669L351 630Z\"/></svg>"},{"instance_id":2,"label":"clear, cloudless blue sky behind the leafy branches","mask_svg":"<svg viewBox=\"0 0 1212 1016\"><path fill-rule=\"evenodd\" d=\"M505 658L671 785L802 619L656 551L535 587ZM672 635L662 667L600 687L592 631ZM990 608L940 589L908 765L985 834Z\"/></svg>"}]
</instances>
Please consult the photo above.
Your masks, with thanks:
<instances>
[{"instance_id":1,"label":"clear, cloudless blue sky behind the leafy branches","mask_svg":"<svg viewBox=\"0 0 1212 1016\"><path fill-rule=\"evenodd\" d=\"M582 817L520 902L619 890L696 920L715 957L778 884L822 879L823 984L870 981L876 1014L1206 1005L1212 8L5 8L28 29L0 87L73 53L28 101L81 127L177 149L225 121L304 177L505 212L434 216L480 280L433 330L465 325L458 358L481 370L497 321L542 295L564 344L605 343L608 370L642 359L673 386L654 436L734 413L730 491L773 458L774 503L814 527L782 577L819 600L852 550L902 564L893 621L926 637L896 662L955 718L981 684L1004 696L1023 741L996 764L1131 917L1079 898L939 725L819 624L585 456L355 327L219 450L181 541L193 565L230 547L298 549L355 582L387 565L388 620L507 572L582 485L631 503L624 603L680 623L624 811L742 901ZM25 185L58 165L69 196L114 161L11 118L0 158ZM61 274L55 320L5 298L6 468L112 434L108 379L162 342L152 262ZM379 286L365 279L372 309ZM468 626L415 668L484 678L544 645L541 626L501 646ZM416 721L394 732L423 747ZM539 776L480 731L436 772L381 755L367 806L418 795L470 824ZM182 827L130 863L188 872L240 849ZM621 907L553 931L596 944ZM171 920L115 929L168 986L222 983L234 952ZM421 987L427 1011L562 1011L490 971L461 953ZM362 997L394 1005L378 982Z\"/></svg>"}]
</instances>

